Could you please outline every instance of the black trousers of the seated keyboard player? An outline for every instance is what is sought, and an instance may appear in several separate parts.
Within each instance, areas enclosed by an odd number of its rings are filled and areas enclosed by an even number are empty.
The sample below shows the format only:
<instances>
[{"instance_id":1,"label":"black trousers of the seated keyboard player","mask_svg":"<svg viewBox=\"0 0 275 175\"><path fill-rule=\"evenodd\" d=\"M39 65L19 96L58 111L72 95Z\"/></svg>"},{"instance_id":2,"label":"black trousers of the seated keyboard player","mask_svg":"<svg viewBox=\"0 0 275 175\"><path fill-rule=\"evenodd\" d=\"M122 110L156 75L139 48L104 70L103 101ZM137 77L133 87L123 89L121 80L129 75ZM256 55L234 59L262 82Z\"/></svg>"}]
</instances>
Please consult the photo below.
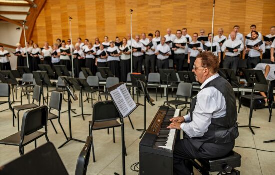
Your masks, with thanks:
<instances>
[{"instance_id":1,"label":"black trousers of the seated keyboard player","mask_svg":"<svg viewBox=\"0 0 275 175\"><path fill-rule=\"evenodd\" d=\"M174 175L185 175L193 172L190 160L198 158L218 158L233 150L235 142L226 144L201 143L193 139L181 139L174 146Z\"/></svg>"}]
</instances>

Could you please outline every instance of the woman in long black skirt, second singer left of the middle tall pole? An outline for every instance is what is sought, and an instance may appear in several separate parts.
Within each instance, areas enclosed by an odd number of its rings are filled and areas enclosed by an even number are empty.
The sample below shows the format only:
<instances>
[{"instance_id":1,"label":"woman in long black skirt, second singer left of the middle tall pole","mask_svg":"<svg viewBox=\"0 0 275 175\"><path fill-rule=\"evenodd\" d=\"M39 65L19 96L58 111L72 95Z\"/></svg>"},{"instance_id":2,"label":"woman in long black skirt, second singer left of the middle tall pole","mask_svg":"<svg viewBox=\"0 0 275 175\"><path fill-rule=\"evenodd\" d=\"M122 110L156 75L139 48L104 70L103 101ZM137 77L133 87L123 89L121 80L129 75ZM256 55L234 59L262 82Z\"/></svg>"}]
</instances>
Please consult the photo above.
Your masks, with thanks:
<instances>
[{"instance_id":1,"label":"woman in long black skirt, second singer left of the middle tall pole","mask_svg":"<svg viewBox=\"0 0 275 175\"><path fill-rule=\"evenodd\" d=\"M112 74L115 77L120 78L120 65L119 65L119 49L117 46L114 45L113 41L110 41L110 46L107 48L107 55L108 55L108 59L107 59L107 65L110 68ZM116 51L116 52L115 52Z\"/></svg>"}]
</instances>

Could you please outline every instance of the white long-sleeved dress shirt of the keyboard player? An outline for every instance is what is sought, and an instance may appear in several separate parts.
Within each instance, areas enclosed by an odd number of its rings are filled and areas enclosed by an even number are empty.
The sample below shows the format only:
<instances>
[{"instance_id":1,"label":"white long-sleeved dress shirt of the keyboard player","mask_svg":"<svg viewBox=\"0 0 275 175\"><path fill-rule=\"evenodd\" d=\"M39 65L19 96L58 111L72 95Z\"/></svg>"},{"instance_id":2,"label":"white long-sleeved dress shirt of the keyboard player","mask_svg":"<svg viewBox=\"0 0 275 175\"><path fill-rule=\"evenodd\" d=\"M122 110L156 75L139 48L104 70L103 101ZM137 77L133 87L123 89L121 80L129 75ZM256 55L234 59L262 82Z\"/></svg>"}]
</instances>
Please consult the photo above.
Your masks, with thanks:
<instances>
[{"instance_id":1,"label":"white long-sleeved dress shirt of the keyboard player","mask_svg":"<svg viewBox=\"0 0 275 175\"><path fill-rule=\"evenodd\" d=\"M217 77L219 77L218 73L206 79L200 86L200 89ZM196 95L193 120L191 121L190 113L185 115L185 122L180 125L180 128L189 137L201 137L208 131L212 118L221 118L224 116L226 116L224 96L215 87L207 87L200 90Z\"/></svg>"}]
</instances>

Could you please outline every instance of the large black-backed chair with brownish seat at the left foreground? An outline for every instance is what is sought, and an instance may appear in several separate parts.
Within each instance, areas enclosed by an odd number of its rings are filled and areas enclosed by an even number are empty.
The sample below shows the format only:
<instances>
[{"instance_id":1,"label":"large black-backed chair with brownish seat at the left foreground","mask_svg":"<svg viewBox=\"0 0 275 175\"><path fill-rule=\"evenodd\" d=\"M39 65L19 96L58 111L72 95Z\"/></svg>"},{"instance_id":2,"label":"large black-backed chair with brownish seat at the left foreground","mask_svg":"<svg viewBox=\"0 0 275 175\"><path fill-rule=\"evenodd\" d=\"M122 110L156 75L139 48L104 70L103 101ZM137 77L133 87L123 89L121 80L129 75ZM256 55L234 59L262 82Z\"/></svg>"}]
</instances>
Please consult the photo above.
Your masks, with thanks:
<instances>
[{"instance_id":1,"label":"large black-backed chair with brownish seat at the left foreground","mask_svg":"<svg viewBox=\"0 0 275 175\"><path fill-rule=\"evenodd\" d=\"M40 106L32 110L28 110L23 115L22 130L14 133L2 140L0 144L19 146L20 155L24 155L24 146L36 140L42 136L46 137L47 142L47 106ZM38 131L44 128L45 131Z\"/></svg>"}]
</instances>

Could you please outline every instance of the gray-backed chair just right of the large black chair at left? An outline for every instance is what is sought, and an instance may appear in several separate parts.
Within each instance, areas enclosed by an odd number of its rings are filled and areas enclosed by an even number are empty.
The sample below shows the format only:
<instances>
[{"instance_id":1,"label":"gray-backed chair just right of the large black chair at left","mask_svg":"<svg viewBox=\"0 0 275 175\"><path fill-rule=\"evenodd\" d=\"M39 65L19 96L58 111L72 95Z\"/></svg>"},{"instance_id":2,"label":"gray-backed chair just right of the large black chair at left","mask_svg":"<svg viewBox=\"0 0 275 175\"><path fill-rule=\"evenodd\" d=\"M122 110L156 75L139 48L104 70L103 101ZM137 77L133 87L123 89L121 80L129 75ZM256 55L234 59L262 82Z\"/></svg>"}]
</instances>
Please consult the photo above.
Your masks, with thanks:
<instances>
[{"instance_id":1,"label":"gray-backed chair just right of the large black chair at left","mask_svg":"<svg viewBox=\"0 0 275 175\"><path fill-rule=\"evenodd\" d=\"M66 132L60 122L60 117L61 117L61 108L62 108L62 93L60 92L56 92L56 91L53 91L51 92L51 95L50 95L50 101L49 101L49 111L48 111L48 120L51 122L52 124L52 127L55 131L55 133L57 133L56 131L56 128L54 127L54 124L52 122L53 119L58 119L58 123L66 137L66 139L68 140L68 137L66 135ZM51 109L55 109L58 111L58 115L55 115L54 113L51 113Z\"/></svg>"}]
</instances>

